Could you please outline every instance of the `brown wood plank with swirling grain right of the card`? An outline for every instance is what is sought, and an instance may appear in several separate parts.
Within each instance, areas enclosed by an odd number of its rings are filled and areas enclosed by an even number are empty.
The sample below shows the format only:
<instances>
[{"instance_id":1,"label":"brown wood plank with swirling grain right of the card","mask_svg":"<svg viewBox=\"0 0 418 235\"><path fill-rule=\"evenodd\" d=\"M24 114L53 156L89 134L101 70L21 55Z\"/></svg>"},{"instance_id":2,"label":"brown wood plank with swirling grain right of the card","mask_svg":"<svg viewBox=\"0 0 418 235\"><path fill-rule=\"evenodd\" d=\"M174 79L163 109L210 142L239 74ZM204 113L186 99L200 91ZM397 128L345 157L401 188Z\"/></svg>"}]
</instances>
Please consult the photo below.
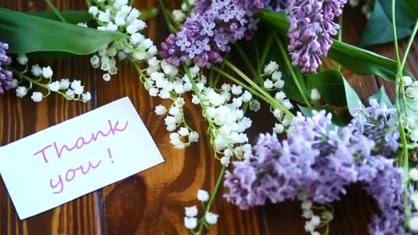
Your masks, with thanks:
<instances>
[{"instance_id":1,"label":"brown wood plank with swirling grain right of the card","mask_svg":"<svg viewBox=\"0 0 418 235\"><path fill-rule=\"evenodd\" d=\"M135 1L138 8L154 6L157 1ZM178 7L178 6L177 6ZM146 36L156 45L168 36L162 15L148 21ZM200 134L198 144L177 150L170 143L162 117L153 112L159 98L150 98L129 63L119 65L110 82L98 79L98 102L129 96L148 131L164 156L164 164L140 172L103 190L108 234L187 234L183 225L184 207L198 203L197 190L212 190L220 170L206 133L206 122L195 105L186 106L188 122ZM100 76L98 76L100 78ZM140 154L140 153L139 153ZM256 211L241 212L229 205L219 192L213 211L219 223L210 234L259 234ZM200 210L202 211L202 210Z\"/></svg>"}]
</instances>

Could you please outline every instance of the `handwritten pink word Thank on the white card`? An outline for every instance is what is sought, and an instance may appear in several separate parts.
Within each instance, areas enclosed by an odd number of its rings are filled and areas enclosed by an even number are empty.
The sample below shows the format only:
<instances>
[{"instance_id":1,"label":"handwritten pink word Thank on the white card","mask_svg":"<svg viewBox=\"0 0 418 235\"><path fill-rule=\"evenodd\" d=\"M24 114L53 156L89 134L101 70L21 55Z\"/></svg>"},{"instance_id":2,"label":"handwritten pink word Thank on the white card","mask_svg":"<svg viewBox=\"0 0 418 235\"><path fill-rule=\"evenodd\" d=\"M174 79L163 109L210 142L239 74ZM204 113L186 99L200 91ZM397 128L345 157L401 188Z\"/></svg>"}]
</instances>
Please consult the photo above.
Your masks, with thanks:
<instances>
[{"instance_id":1,"label":"handwritten pink word Thank on the white card","mask_svg":"<svg viewBox=\"0 0 418 235\"><path fill-rule=\"evenodd\" d=\"M83 146L86 146L86 145L90 144L91 142L96 142L99 135L101 135L102 137L108 137L109 135L115 135L115 133L117 133L117 132L125 131L126 127L128 126L128 121L126 121L126 124L123 128L118 128L119 121L115 122L114 124L112 124L112 122L110 120L107 120L107 122L109 123L109 131L107 131L107 132L97 131L96 133L91 133L91 137L88 140L86 140L84 137L78 137L75 144L70 145L71 147L67 146L66 144L59 147L58 144L56 144L56 142L54 142L53 144L49 144L49 145L45 146L44 148L42 148L41 150L39 150L38 152L34 153L34 156L42 154L43 161L45 161L45 163L48 163L46 150L48 148L51 148L52 146L54 146L56 156L58 157L58 159L60 159L63 156L63 153L64 153L65 150L67 152L71 152L74 149L83 148Z\"/></svg>"}]
</instances>

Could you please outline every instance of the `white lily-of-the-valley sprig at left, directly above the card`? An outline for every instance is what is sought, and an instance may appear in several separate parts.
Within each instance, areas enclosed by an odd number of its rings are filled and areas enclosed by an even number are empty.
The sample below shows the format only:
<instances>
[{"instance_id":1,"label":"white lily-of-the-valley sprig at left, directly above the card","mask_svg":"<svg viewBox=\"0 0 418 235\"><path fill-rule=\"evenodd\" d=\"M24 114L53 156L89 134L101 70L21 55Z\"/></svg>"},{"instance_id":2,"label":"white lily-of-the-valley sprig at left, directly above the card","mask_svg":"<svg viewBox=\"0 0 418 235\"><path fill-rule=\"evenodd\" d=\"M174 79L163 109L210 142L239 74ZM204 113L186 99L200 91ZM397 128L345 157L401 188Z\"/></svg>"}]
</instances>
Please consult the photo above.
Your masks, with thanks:
<instances>
[{"instance_id":1,"label":"white lily-of-the-valley sprig at left, directly above the card","mask_svg":"<svg viewBox=\"0 0 418 235\"><path fill-rule=\"evenodd\" d=\"M17 61L21 65L25 65L28 67L28 56L25 54L19 54L17 57ZM80 80L73 80L72 82L69 81L67 78L63 78L61 80L52 81L52 76L54 71L52 71L51 67L41 67L39 65L32 65L30 72L35 78L30 78L29 76L25 75L27 69L23 72L15 71L15 74L19 76L21 79L20 81L14 79L12 81L12 88L16 89L16 96L19 98L23 98L28 94L28 91L32 89L34 85L41 87L47 90L47 94L44 95L39 91L34 91L32 93L32 100L34 102L41 102L43 98L49 96L51 92L55 92L67 98L67 100L77 100L88 102L91 100L91 93L89 91L85 91L85 87L81 85ZM47 80L47 83L42 82L43 80ZM29 87L25 87L23 85L19 86L19 83L22 83L23 80L29 82Z\"/></svg>"}]
</instances>

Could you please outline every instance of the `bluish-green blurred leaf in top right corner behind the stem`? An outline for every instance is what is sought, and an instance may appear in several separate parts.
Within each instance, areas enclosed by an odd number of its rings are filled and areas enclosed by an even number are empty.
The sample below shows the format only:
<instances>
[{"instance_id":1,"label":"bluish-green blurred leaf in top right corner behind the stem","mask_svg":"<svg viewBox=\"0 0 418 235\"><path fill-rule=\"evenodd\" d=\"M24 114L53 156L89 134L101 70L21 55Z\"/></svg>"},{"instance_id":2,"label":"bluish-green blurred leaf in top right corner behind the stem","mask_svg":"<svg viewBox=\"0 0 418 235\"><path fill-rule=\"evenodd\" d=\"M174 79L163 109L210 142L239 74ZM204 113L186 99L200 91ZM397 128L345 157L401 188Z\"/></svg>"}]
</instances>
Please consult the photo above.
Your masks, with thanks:
<instances>
[{"instance_id":1,"label":"bluish-green blurred leaf in top right corner behind the stem","mask_svg":"<svg viewBox=\"0 0 418 235\"><path fill-rule=\"evenodd\" d=\"M380 3L381 1L388 3L391 2L387 0L375 1L375 9L373 10L371 18L366 23L366 27L364 28L362 40L359 43L360 47L393 41L391 9L384 9L382 3ZM397 38L406 38L412 34L412 26L414 25L415 21L411 16L408 16L408 10L406 10L406 6L402 1L397 2L395 10L396 16L403 16L397 17L399 19L396 19Z\"/></svg>"}]
</instances>

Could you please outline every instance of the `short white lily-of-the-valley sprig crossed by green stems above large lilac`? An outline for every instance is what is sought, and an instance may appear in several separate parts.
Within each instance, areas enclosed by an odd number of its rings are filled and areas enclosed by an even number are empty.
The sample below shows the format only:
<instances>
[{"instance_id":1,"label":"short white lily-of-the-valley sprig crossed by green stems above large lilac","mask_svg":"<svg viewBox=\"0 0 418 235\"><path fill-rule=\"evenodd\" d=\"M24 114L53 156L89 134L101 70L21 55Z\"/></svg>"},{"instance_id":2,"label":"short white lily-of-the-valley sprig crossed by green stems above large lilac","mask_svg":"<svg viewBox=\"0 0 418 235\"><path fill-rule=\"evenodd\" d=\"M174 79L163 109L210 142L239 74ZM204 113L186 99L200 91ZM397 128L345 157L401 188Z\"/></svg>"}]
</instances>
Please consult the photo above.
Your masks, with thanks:
<instances>
[{"instance_id":1,"label":"short white lily-of-the-valley sprig crossed by green stems above large lilac","mask_svg":"<svg viewBox=\"0 0 418 235\"><path fill-rule=\"evenodd\" d=\"M275 91L274 99L276 99L278 102L283 104L283 107L285 109L290 110L293 109L293 104L290 102L290 100L286 97L286 94L281 90L285 86L285 80L282 79L282 72L278 70L278 65L274 61L270 61L267 65L264 67L264 74L263 76L271 76L271 79L267 78L264 82L264 89L267 91ZM275 133L283 133L285 131L285 128L289 126L292 122L292 117L289 115L285 115L283 113L283 110L281 109L271 109L274 117L277 118L279 121L274 125L273 131Z\"/></svg>"}]
</instances>

